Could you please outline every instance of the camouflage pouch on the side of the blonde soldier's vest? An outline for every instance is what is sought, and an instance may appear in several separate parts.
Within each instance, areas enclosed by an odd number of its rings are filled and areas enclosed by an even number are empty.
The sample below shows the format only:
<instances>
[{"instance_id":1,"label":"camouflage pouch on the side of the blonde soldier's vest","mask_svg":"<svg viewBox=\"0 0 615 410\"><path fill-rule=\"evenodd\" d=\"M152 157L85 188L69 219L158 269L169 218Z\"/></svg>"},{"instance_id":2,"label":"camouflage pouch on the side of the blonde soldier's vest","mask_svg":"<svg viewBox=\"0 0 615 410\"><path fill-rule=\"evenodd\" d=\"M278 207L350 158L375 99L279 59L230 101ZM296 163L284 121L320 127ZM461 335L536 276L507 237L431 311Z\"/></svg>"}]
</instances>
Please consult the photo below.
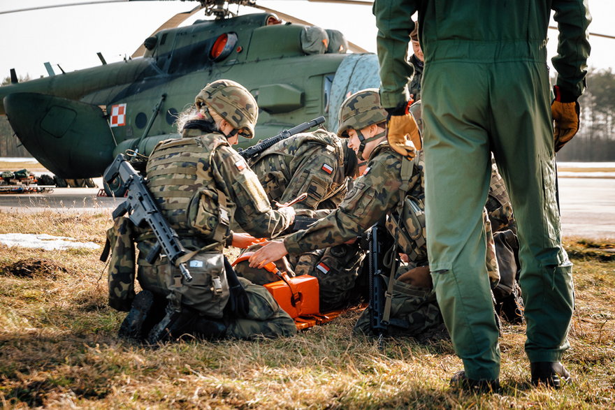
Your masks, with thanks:
<instances>
[{"instance_id":1,"label":"camouflage pouch on the side of the blonde soldier's vest","mask_svg":"<svg viewBox=\"0 0 615 410\"><path fill-rule=\"evenodd\" d=\"M230 217L234 204L219 189L203 188L192 196L187 210L188 226L204 239L223 242L231 235Z\"/></svg>"}]
</instances>

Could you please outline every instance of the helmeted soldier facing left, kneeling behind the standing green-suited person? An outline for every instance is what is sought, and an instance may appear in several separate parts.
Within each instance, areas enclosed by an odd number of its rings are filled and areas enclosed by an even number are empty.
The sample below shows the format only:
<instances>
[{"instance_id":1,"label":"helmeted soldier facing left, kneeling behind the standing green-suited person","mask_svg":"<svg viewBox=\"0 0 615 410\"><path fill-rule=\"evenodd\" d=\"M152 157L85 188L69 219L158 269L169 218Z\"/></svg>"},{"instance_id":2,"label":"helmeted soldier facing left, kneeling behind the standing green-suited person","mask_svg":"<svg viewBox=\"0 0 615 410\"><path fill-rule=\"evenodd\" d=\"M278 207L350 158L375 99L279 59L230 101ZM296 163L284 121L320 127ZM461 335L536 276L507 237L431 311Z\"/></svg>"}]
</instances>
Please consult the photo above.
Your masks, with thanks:
<instances>
[{"instance_id":1,"label":"helmeted soldier facing left, kneeling behind the standing green-suited person","mask_svg":"<svg viewBox=\"0 0 615 410\"><path fill-rule=\"evenodd\" d=\"M420 117L420 108L421 104L417 103L410 110ZM376 89L359 91L342 103L338 135L348 135L349 146L355 149L357 156L369 159L366 173L357 178L354 189L338 210L307 230L285 237L284 242L271 242L256 251L250 259L250 265L256 268L275 261L287 254L287 251L312 251L324 244L345 243L362 235L383 214L389 214L387 228L397 239L398 247L410 259L410 263L401 266L396 272L391 310L391 317L405 319L408 326L403 330L391 329L391 335L403 334L424 339L442 335L442 318L432 291L427 261L423 162L420 154L409 161L389 147L384 138L385 121L386 112L379 106ZM407 181L407 186L403 186L402 181ZM498 180L494 179L493 203L500 204L494 210L500 211L502 221L507 217L505 224L509 224L512 221L512 210L505 191L500 190L499 185ZM400 203L402 200L403 203ZM409 201L412 203L406 204ZM400 213L403 216L401 229L396 223ZM486 232L489 234L491 230L487 212L484 215ZM486 264L490 267L489 275L495 286L498 284L499 270L495 260L495 244L493 240L490 243L492 250ZM490 311L493 312L493 307ZM367 313L362 316L356 330L370 332L367 317Z\"/></svg>"}]
</instances>

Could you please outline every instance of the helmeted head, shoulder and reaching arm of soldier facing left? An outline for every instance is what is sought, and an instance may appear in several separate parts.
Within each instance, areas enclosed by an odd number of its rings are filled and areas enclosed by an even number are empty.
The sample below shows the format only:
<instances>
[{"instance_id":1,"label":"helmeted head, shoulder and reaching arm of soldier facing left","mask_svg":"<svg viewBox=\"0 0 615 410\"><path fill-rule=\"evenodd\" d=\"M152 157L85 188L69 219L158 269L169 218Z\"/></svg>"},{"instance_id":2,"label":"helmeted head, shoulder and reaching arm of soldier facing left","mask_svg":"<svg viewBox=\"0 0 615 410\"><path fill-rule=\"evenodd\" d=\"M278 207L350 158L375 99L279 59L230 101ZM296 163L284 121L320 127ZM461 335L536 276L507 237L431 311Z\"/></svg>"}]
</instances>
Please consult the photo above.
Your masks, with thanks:
<instances>
[{"instance_id":1,"label":"helmeted head, shoulder and reaching arm of soldier facing left","mask_svg":"<svg viewBox=\"0 0 615 410\"><path fill-rule=\"evenodd\" d=\"M348 146L360 161L368 160L366 172L355 180L337 210L306 230L284 237L283 242L270 242L259 249L250 258L250 266L260 268L289 252L303 254L352 242L408 193L422 196L420 161L408 161L389 147L385 124L386 111L379 105L377 89L358 91L342 103L338 136L348 138Z\"/></svg>"}]
</instances>

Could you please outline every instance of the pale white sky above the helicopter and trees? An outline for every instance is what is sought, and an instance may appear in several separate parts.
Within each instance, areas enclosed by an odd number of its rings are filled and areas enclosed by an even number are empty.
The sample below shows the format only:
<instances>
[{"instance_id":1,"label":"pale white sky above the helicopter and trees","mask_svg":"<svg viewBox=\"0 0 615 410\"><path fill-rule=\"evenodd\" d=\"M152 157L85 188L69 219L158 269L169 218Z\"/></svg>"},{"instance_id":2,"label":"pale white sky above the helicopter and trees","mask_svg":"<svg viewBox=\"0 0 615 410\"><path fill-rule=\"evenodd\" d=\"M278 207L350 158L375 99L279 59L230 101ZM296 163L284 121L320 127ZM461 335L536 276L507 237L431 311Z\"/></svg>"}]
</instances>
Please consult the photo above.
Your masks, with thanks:
<instances>
[{"instance_id":1,"label":"pale white sky above the helicopter and trees","mask_svg":"<svg viewBox=\"0 0 615 410\"><path fill-rule=\"evenodd\" d=\"M0 0L0 11L76 0ZM83 1L83 0L80 0ZM303 0L270 0L258 4L296 15L326 29L342 31L352 41L375 52L375 19L368 6L308 3ZM589 0L593 22L591 32L615 36L615 0ZM17 75L38 78L47 75L43 66L49 61L56 73L74 71L101 64L96 52L107 62L130 56L152 32L168 18L198 6L196 1L132 1L52 8L0 15L3 36L0 78L15 68ZM233 7L236 10L236 6ZM240 13L258 10L241 8ZM203 12L187 20L203 18ZM556 31L549 31L549 57L556 54ZM591 38L592 53L588 64L615 71L615 40Z\"/></svg>"}]
</instances>

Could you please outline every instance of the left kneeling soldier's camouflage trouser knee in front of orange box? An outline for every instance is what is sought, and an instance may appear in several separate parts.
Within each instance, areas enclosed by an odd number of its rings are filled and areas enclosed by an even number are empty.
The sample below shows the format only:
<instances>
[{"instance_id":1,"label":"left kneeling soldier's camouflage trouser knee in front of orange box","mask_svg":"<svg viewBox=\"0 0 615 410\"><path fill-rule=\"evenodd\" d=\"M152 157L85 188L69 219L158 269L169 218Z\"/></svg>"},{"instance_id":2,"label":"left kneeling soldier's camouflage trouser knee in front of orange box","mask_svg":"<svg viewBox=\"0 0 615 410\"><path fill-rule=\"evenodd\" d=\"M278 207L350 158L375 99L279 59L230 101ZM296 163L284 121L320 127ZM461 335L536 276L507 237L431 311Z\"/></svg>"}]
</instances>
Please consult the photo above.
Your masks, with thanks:
<instances>
[{"instance_id":1,"label":"left kneeling soldier's camouflage trouser knee in front of orange box","mask_svg":"<svg viewBox=\"0 0 615 410\"><path fill-rule=\"evenodd\" d=\"M243 277L239 281L245 288L249 309L244 318L228 319L227 337L253 339L255 337L288 337L295 335L294 320L280 309L273 296L263 286L252 284Z\"/></svg>"}]
</instances>

